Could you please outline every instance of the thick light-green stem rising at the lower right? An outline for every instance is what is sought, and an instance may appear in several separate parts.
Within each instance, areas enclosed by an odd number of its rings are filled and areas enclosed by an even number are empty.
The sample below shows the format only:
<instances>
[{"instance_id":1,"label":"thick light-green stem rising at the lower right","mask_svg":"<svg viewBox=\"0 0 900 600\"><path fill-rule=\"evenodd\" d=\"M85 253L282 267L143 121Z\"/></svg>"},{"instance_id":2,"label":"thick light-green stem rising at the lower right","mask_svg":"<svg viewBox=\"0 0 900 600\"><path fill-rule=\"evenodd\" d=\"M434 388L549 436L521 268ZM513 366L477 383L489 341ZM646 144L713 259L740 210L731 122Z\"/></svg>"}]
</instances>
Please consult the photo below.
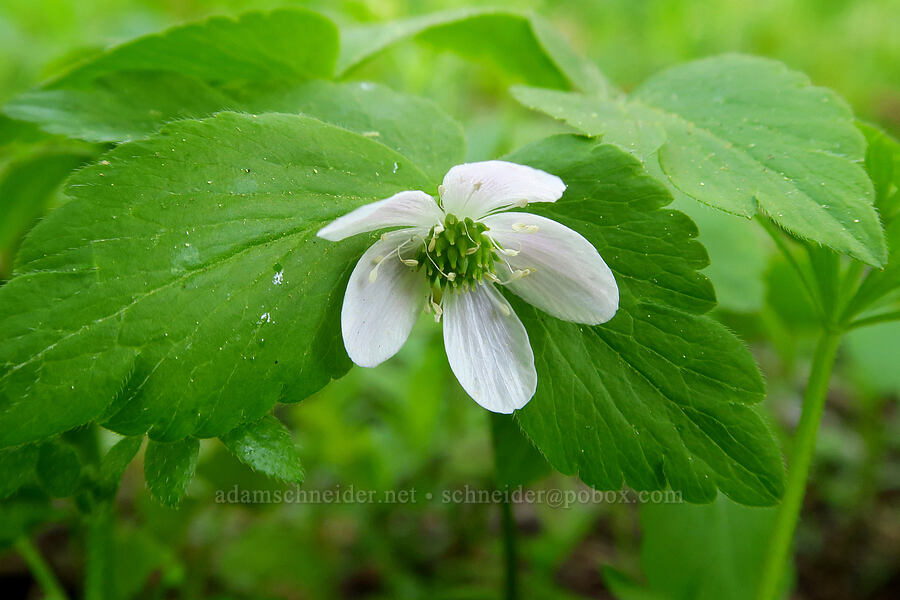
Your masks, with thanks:
<instances>
[{"instance_id":1,"label":"thick light-green stem rising at the lower right","mask_svg":"<svg viewBox=\"0 0 900 600\"><path fill-rule=\"evenodd\" d=\"M787 487L781 505L778 507L775 528L769 542L769 552L763 565L757 595L759 600L775 600L779 597L788 555L793 545L794 531L800 517L803 496L806 493L806 482L809 478L809 469L816 447L816 434L819 431L819 423L822 421L825 398L828 394L828 382L831 378L831 370L834 367L841 335L841 332L828 330L822 334L816 346L812 370L806 384L806 393L803 396L803 412L794 434Z\"/></svg>"}]
</instances>

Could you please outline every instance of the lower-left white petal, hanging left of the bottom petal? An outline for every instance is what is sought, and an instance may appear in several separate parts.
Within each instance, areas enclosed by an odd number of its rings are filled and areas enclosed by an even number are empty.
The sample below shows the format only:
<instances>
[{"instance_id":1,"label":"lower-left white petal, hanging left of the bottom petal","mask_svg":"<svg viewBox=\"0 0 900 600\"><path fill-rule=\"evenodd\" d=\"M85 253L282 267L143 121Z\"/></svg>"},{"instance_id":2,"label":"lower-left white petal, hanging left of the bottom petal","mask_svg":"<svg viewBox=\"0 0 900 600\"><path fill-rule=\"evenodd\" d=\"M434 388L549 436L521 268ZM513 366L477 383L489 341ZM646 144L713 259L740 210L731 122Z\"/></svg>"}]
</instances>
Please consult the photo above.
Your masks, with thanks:
<instances>
[{"instance_id":1,"label":"lower-left white petal, hanging left of the bottom petal","mask_svg":"<svg viewBox=\"0 0 900 600\"><path fill-rule=\"evenodd\" d=\"M404 229L385 234L366 250L350 274L341 331L350 360L361 367L374 367L395 355L425 307L425 278L396 254L404 238L414 233Z\"/></svg>"}]
</instances>

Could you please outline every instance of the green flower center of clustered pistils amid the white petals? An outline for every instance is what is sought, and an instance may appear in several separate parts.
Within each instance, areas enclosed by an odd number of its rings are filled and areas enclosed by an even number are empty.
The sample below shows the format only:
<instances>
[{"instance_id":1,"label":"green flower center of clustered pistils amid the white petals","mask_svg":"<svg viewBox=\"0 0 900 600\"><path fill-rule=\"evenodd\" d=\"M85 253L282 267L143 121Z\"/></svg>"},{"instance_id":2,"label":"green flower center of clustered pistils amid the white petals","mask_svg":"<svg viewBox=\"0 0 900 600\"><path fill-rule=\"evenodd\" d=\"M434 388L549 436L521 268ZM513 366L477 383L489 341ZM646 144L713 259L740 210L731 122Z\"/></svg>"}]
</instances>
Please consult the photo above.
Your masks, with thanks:
<instances>
[{"instance_id":1,"label":"green flower center of clustered pistils amid the white petals","mask_svg":"<svg viewBox=\"0 0 900 600\"><path fill-rule=\"evenodd\" d=\"M448 214L443 225L435 225L428 232L416 261L437 298L448 287L467 291L486 274L488 278L494 275L496 243L487 236L487 230L487 225L469 217L459 220Z\"/></svg>"}]
</instances>

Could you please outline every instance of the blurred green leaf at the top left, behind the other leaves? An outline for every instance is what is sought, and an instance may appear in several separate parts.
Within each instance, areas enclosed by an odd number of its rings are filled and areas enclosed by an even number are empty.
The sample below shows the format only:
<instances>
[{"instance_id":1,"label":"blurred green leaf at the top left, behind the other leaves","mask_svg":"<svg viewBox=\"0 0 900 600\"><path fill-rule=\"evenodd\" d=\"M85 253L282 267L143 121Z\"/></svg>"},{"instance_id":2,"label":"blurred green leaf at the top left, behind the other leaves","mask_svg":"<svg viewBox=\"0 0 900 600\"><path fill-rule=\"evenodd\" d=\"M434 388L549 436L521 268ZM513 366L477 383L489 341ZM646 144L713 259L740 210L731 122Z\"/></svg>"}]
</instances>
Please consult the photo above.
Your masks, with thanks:
<instances>
[{"instance_id":1,"label":"blurred green leaf at the top left, behind the other leaves","mask_svg":"<svg viewBox=\"0 0 900 600\"><path fill-rule=\"evenodd\" d=\"M115 71L170 71L217 82L327 79L337 51L337 28L317 13L248 12L139 37L78 65L50 87L87 86Z\"/></svg>"}]
</instances>

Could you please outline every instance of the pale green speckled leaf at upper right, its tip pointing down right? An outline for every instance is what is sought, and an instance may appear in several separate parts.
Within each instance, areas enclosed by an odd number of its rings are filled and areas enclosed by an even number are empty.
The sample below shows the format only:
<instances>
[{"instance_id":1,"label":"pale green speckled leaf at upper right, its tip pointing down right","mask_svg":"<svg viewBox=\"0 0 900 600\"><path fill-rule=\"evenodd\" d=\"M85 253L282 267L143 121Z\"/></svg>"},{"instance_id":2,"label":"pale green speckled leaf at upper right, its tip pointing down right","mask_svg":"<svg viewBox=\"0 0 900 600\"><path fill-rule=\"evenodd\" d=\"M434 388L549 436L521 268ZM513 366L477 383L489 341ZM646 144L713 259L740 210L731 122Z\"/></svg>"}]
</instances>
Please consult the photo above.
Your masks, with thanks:
<instances>
[{"instance_id":1,"label":"pale green speckled leaf at upper right, its tip pointing down right","mask_svg":"<svg viewBox=\"0 0 900 600\"><path fill-rule=\"evenodd\" d=\"M847 105L806 76L727 55L664 71L627 100L515 88L524 105L635 154L673 191L881 265L884 236Z\"/></svg>"}]
</instances>

